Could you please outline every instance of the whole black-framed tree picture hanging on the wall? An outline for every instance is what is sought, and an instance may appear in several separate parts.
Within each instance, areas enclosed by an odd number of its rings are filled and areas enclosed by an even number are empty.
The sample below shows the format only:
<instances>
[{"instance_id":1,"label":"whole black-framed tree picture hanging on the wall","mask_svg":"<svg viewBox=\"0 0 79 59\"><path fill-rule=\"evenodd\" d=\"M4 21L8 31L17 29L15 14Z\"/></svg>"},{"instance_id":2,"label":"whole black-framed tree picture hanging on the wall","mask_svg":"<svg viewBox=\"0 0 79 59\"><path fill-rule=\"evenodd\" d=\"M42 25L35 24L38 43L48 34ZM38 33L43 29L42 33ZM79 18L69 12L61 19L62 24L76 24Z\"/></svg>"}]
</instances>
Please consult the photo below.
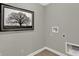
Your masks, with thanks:
<instances>
[{"instance_id":1,"label":"whole black-framed tree picture hanging on the wall","mask_svg":"<svg viewBox=\"0 0 79 59\"><path fill-rule=\"evenodd\" d=\"M0 3L0 31L34 30L34 11Z\"/></svg>"}]
</instances>

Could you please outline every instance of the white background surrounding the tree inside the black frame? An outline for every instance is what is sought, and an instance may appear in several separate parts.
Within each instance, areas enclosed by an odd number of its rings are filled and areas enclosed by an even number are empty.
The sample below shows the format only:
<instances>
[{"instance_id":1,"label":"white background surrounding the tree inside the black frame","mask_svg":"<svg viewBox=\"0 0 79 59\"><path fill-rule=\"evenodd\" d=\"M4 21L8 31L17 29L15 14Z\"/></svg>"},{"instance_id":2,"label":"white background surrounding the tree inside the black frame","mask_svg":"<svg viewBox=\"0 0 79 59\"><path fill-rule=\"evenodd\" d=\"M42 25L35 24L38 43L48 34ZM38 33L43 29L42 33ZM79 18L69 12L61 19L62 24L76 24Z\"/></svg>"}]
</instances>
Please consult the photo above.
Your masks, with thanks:
<instances>
[{"instance_id":1,"label":"white background surrounding the tree inside the black frame","mask_svg":"<svg viewBox=\"0 0 79 59\"><path fill-rule=\"evenodd\" d=\"M29 17L30 21L31 21L29 23L29 26L32 26L32 14L31 13L18 11L18 10L15 10L15 9L9 9L9 8L4 8L4 26L15 26L15 25L19 26L18 23L16 23L16 24L7 23L8 15L11 14L12 12L15 12L15 13L22 12L22 13L26 14ZM25 24L23 24L23 25L25 25Z\"/></svg>"}]
</instances>

